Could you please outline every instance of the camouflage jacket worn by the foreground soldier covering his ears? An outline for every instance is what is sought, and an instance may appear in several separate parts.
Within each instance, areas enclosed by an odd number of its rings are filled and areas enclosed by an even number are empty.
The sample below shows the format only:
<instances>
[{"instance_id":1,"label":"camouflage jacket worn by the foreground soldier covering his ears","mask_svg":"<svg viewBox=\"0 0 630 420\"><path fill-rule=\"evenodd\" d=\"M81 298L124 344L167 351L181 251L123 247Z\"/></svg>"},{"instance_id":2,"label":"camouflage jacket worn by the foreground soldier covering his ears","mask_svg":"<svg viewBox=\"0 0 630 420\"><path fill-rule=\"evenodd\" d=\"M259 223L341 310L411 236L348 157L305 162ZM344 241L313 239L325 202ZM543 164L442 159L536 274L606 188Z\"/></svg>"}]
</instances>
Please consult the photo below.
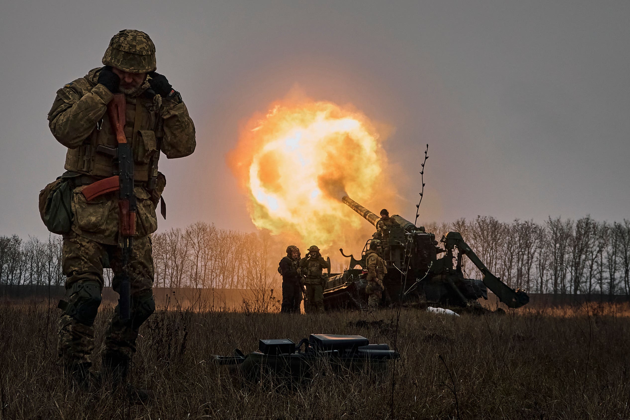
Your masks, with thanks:
<instances>
[{"instance_id":1,"label":"camouflage jacket worn by the foreground soldier covering his ears","mask_svg":"<svg viewBox=\"0 0 630 420\"><path fill-rule=\"evenodd\" d=\"M100 68L91 70L57 91L57 97L49 111L50 131L55 139L68 148L65 168L93 178L108 178L115 165L111 156L96 153L98 145L117 147L113 128L106 113L113 94L96 81ZM164 120L164 138L161 151L169 159L184 157L195 150L195 125L183 102L162 101L159 96L146 98L147 80L137 96L126 96L125 136L134 154L134 178L142 183L149 179L149 162L157 150L156 133L158 118ZM156 199L166 184L158 179L157 192L147 191L144 185L134 188L137 197L136 236L147 236L157 229ZM104 244L118 243L118 193L108 193L89 203L77 186L72 199L74 223L72 230L81 236ZM152 196L153 195L153 196ZM151 200L152 198L152 200Z\"/></svg>"}]
</instances>

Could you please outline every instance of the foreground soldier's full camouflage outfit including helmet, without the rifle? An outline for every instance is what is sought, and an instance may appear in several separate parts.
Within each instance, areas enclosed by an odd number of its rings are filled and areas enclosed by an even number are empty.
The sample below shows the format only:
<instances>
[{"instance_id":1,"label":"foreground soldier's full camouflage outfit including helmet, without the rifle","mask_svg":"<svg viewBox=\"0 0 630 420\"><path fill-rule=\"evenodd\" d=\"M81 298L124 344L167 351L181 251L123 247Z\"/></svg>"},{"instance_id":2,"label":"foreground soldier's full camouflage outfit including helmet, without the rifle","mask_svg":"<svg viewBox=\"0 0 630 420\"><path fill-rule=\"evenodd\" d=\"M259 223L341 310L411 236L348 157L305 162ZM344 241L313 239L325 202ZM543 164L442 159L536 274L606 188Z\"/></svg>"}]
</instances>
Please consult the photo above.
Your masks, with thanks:
<instances>
[{"instance_id":1,"label":"foreground soldier's full camouflage outfit including helmet, without the rifle","mask_svg":"<svg viewBox=\"0 0 630 420\"><path fill-rule=\"evenodd\" d=\"M66 275L66 300L60 307L59 358L67 372L85 378L94 350L93 322L101 303L103 267L109 261L113 289L118 291L122 273L118 235L118 191L87 201L81 191L89 184L116 174L112 156L117 139L106 113L113 93L125 92L125 137L134 157L134 195L137 198L135 236L128 265L131 284L131 319L123 321L118 307L106 332L103 366L120 368L123 377L135 353L140 325L155 310L152 293L151 238L157 229L156 206L166 185L157 172L159 150L168 158L184 157L195 150L195 126L180 95L156 70L155 46L141 31L123 30L115 35L103 57L106 67L91 70L57 91L48 120L50 131L66 146L65 176L74 191L72 227L64 234L62 251ZM134 89L123 89L120 72L144 77ZM128 84L129 82L125 82ZM156 142L156 127L163 121L163 140ZM149 182L151 181L151 182ZM63 302L62 302L63 303Z\"/></svg>"}]
</instances>

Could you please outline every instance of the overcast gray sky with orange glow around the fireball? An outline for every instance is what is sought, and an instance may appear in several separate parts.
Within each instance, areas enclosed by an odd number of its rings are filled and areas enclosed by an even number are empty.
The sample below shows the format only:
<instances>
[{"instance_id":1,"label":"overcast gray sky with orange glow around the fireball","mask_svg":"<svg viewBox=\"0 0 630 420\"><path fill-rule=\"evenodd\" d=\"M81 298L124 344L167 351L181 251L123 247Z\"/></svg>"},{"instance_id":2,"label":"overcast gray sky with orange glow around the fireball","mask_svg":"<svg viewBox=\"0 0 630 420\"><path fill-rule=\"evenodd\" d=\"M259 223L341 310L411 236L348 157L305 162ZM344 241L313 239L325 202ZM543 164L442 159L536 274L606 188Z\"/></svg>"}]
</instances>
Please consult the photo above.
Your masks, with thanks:
<instances>
[{"instance_id":1,"label":"overcast gray sky with orange glow around the fireball","mask_svg":"<svg viewBox=\"0 0 630 420\"><path fill-rule=\"evenodd\" d=\"M195 154L160 162L160 230L254 229L225 154L296 84L395 128L385 147L410 203L390 212L413 217L428 142L423 220L630 218L629 21L627 1L8 2L0 234L47 234L37 195L66 152L47 112L125 28L149 33L197 126Z\"/></svg>"}]
</instances>

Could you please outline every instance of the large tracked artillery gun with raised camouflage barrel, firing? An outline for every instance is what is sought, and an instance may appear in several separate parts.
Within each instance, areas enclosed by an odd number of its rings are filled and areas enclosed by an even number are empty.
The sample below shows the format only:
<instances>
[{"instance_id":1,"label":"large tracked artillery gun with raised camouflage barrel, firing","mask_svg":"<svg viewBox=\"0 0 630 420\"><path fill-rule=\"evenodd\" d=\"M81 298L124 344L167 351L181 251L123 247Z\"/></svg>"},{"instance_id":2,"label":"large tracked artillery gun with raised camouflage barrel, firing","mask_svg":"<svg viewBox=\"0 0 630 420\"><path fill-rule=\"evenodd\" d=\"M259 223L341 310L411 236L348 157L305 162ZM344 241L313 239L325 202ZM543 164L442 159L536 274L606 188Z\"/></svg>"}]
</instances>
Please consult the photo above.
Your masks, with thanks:
<instances>
[{"instance_id":1,"label":"large tracked artillery gun with raised camouflage barrel, firing","mask_svg":"<svg viewBox=\"0 0 630 420\"><path fill-rule=\"evenodd\" d=\"M377 222L381 220L379 216L348 196L343 196L341 201L377 227ZM529 302L527 293L508 287L493 275L459 232L444 235L440 240L444 247L439 247L435 234L426 232L424 227L416 227L399 215L393 215L390 219L391 225L377 229L374 234L374 238L381 239L381 255L387 266L387 274L383 279L385 291L382 293L382 305L403 300L466 307L478 305L478 298L487 299L487 289L510 308L518 308ZM343 249L339 250L342 256L350 258L350 266L342 274L329 276L326 281L324 305L327 308L362 309L366 306L365 253L371 241L365 242L360 259L355 259L352 254L344 254ZM454 253L455 250L457 253ZM479 269L483 275L481 280L464 276L464 255ZM403 274L405 266L408 267L406 278Z\"/></svg>"}]
</instances>

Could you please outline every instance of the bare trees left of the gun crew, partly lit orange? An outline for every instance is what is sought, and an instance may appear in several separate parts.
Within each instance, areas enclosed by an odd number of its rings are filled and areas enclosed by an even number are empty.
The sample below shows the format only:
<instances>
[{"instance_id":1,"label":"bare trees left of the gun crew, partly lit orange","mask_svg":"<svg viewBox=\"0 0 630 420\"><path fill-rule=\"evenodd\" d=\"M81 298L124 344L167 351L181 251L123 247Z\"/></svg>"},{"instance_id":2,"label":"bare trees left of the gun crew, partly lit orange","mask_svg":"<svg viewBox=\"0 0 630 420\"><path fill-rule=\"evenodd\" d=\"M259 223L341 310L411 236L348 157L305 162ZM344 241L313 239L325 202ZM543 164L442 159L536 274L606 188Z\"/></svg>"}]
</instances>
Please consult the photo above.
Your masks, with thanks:
<instances>
[{"instance_id":1,"label":"bare trees left of the gun crew, partly lit orange","mask_svg":"<svg viewBox=\"0 0 630 420\"><path fill-rule=\"evenodd\" d=\"M264 288L273 280L270 269L278 259L275 254L268 258L272 241L265 234L217 229L205 222L154 234L151 241L156 287ZM58 235L26 241L0 236L0 284L62 285L62 245ZM106 269L106 286L112 277Z\"/></svg>"}]
</instances>

